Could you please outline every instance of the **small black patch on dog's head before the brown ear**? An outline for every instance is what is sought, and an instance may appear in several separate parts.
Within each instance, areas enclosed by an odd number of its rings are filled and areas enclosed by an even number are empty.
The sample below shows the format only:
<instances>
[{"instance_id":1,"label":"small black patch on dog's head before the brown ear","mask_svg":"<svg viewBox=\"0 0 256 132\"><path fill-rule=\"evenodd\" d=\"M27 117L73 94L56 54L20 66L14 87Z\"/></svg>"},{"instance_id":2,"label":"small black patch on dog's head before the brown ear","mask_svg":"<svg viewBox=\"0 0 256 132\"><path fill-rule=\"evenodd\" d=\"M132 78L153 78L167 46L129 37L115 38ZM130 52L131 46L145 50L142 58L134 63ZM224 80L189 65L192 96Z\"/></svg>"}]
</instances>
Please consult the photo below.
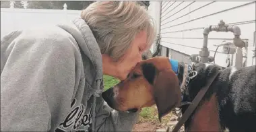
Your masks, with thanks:
<instances>
[{"instance_id":1,"label":"small black patch on dog's head before the brown ear","mask_svg":"<svg viewBox=\"0 0 256 132\"><path fill-rule=\"evenodd\" d=\"M148 80L150 84L154 84L154 77L156 75L156 68L152 63L144 63L142 65L142 71L144 77Z\"/></svg>"}]
</instances>

